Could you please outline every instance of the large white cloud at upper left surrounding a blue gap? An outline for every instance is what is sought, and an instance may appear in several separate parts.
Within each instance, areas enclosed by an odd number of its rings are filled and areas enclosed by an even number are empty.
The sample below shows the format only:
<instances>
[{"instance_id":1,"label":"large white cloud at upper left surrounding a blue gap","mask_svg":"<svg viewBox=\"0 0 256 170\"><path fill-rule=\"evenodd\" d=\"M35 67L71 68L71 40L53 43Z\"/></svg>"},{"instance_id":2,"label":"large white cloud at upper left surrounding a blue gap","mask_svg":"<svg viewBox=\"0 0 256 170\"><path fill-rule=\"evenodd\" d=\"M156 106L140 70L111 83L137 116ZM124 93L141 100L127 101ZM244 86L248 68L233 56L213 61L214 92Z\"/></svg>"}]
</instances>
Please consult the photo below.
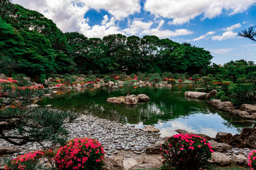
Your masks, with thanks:
<instances>
[{"instance_id":1,"label":"large white cloud at upper left surrounding a blue gap","mask_svg":"<svg viewBox=\"0 0 256 170\"><path fill-rule=\"evenodd\" d=\"M119 28L114 26L115 21L139 12L141 8L139 0L13 0L12 3L44 14L63 32L80 31L88 37L120 33ZM101 25L90 27L89 19L84 18L84 14L90 9L106 10L113 17L109 21L105 15Z\"/></svg>"}]
</instances>

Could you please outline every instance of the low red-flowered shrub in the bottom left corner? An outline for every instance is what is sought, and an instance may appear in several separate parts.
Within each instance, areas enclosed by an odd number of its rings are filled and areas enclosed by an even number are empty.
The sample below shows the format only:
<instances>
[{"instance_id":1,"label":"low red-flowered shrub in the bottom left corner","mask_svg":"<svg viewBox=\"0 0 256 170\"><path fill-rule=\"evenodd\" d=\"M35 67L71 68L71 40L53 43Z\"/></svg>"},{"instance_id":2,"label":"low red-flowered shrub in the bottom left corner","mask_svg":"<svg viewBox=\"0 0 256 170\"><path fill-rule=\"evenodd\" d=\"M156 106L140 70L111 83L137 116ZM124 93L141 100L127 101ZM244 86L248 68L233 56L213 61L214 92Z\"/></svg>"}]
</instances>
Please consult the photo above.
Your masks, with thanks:
<instances>
[{"instance_id":1,"label":"low red-flowered shrub in the bottom left corner","mask_svg":"<svg viewBox=\"0 0 256 170\"><path fill-rule=\"evenodd\" d=\"M52 152L52 150L45 152L49 153ZM38 150L24 155L19 155L16 159L12 159L4 169L35 169L38 160L45 154L45 152Z\"/></svg>"}]
</instances>

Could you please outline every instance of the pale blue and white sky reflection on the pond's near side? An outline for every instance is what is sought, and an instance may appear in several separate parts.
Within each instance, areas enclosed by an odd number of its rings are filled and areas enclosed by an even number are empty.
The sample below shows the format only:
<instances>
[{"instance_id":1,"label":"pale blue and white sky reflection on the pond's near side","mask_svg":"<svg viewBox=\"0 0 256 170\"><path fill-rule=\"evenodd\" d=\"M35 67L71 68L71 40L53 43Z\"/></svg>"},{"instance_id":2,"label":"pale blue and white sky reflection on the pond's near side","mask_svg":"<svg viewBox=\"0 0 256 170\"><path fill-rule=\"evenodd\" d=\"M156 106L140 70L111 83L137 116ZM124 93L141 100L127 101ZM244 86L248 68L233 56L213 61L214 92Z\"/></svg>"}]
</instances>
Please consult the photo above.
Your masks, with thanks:
<instances>
[{"instance_id":1,"label":"pale blue and white sky reflection on the pond's near side","mask_svg":"<svg viewBox=\"0 0 256 170\"><path fill-rule=\"evenodd\" d=\"M227 127L223 124L225 120L218 114L194 114L185 117L179 117L167 122L158 122L154 126L160 129L161 137L172 136L177 134L175 130L183 129L188 132L206 134L214 138L217 132L230 132L237 134L236 127ZM143 127L143 123L136 125L136 127Z\"/></svg>"}]
</instances>

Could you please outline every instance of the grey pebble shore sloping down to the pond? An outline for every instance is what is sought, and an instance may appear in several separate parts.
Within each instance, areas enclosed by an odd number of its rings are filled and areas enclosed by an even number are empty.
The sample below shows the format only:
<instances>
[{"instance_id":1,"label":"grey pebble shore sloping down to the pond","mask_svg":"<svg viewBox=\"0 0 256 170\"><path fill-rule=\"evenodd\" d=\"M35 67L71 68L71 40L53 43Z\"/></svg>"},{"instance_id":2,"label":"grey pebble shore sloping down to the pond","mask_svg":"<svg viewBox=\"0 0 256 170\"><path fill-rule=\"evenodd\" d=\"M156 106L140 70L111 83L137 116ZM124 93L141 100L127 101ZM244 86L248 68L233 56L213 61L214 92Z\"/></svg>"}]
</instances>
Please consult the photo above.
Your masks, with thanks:
<instances>
[{"instance_id":1,"label":"grey pebble shore sloping down to the pond","mask_svg":"<svg viewBox=\"0 0 256 170\"><path fill-rule=\"evenodd\" d=\"M69 131L67 139L74 138L95 138L104 147L106 157L111 157L111 152L117 154L117 150L136 151L136 153L144 153L147 146L152 145L159 139L159 134L154 132L143 132L142 129L134 127L134 125L124 125L114 121L94 117L93 115L79 115L72 123L65 124L65 128ZM6 134L13 134L14 131L8 131ZM44 146L54 146L51 142L43 141ZM0 139L0 146L14 146L4 139ZM20 148L22 152L15 153L20 155L35 150L44 149L39 143L29 142L23 146L15 146ZM58 148L54 146L53 148ZM14 154L10 155L11 157Z\"/></svg>"}]
</instances>

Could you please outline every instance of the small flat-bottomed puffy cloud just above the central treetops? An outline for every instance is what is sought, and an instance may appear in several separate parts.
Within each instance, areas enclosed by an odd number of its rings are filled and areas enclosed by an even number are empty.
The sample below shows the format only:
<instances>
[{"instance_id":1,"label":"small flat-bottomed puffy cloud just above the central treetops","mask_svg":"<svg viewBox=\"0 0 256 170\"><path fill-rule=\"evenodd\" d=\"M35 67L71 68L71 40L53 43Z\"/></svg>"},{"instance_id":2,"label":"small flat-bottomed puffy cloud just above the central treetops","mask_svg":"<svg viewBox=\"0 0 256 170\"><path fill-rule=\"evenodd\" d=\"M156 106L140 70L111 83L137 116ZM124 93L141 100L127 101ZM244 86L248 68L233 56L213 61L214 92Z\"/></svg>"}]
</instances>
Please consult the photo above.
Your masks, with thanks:
<instances>
[{"instance_id":1,"label":"small flat-bottomed puffy cloud just above the central treetops","mask_svg":"<svg viewBox=\"0 0 256 170\"><path fill-rule=\"evenodd\" d=\"M141 20L133 20L127 29L124 29L124 32L130 35L139 34L143 35L155 35L159 38L170 38L173 36L183 36L193 34L192 31L188 29L175 29L175 31L170 31L168 29L161 30L161 27L164 24L164 20L160 20L156 28L152 28L153 22L142 22Z\"/></svg>"}]
</instances>

